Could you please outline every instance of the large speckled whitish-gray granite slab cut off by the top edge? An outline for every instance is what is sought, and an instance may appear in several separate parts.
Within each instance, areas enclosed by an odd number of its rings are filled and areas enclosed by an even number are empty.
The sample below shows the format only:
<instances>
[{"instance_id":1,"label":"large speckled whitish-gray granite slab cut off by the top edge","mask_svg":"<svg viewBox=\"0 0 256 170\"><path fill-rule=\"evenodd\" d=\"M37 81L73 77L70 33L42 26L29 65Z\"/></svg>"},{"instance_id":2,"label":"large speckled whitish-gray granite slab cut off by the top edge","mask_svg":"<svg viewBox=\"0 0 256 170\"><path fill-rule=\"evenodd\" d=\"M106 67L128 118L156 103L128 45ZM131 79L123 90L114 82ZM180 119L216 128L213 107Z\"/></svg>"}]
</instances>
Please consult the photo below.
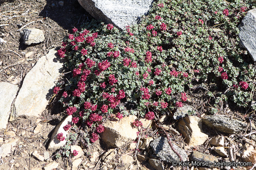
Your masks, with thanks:
<instances>
[{"instance_id":1,"label":"large speckled whitish-gray granite slab cut off by the top edge","mask_svg":"<svg viewBox=\"0 0 256 170\"><path fill-rule=\"evenodd\" d=\"M146 14L153 0L78 0L81 6L95 19L113 23L125 29L128 25L138 23Z\"/></svg>"}]
</instances>

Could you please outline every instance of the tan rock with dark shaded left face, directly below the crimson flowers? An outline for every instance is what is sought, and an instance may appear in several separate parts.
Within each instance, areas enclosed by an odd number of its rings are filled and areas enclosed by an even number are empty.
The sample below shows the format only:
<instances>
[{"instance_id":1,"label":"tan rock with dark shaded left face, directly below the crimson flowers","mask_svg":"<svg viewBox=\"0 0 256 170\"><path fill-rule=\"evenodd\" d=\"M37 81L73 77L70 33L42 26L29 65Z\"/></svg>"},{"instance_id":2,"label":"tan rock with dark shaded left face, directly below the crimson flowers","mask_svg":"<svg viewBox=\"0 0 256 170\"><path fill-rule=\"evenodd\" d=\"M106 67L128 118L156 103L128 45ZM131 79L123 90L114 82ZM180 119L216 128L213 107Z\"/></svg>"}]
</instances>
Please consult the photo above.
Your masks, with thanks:
<instances>
[{"instance_id":1,"label":"tan rock with dark shaded left face, directly below the crimson flowers","mask_svg":"<svg viewBox=\"0 0 256 170\"><path fill-rule=\"evenodd\" d=\"M108 145L108 147L121 147L126 142L137 138L137 128L132 127L132 122L136 120L136 116L130 115L122 118L120 121L107 120L104 123L104 132L100 134L100 138Z\"/></svg>"}]
</instances>

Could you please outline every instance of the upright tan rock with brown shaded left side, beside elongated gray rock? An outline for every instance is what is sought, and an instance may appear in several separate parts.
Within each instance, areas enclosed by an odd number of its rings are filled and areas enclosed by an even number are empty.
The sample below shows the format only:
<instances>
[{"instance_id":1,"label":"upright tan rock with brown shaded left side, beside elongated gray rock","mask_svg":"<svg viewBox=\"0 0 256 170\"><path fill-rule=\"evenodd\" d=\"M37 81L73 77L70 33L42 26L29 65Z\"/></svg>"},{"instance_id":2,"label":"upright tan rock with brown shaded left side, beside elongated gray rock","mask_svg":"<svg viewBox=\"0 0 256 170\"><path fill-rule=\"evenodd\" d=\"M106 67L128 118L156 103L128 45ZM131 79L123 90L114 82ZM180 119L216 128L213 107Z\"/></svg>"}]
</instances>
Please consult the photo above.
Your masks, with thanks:
<instances>
[{"instance_id":1,"label":"upright tan rock with brown shaded left side, beside elongated gray rock","mask_svg":"<svg viewBox=\"0 0 256 170\"><path fill-rule=\"evenodd\" d=\"M202 120L196 116L188 116L180 120L178 131L183 135L185 142L192 147L201 145L208 139L208 135L203 133Z\"/></svg>"}]
</instances>

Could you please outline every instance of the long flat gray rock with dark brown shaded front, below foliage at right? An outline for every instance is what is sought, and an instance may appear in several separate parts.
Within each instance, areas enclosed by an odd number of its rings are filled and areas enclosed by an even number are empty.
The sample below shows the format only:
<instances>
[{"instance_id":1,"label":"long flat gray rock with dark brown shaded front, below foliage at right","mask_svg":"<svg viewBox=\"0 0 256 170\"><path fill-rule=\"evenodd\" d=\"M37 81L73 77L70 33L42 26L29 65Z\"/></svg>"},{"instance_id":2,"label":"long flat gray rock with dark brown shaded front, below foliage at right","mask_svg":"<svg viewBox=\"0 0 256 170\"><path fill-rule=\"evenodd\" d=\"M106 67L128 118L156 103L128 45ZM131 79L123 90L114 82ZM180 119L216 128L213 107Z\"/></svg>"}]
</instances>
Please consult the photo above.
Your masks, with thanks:
<instances>
[{"instance_id":1,"label":"long flat gray rock with dark brown shaded front, below foliage at right","mask_svg":"<svg viewBox=\"0 0 256 170\"><path fill-rule=\"evenodd\" d=\"M247 124L244 124L242 121L223 116L204 116L202 121L210 128L214 128L216 131L221 131L228 134L237 133L243 129L245 130L247 126Z\"/></svg>"}]
</instances>

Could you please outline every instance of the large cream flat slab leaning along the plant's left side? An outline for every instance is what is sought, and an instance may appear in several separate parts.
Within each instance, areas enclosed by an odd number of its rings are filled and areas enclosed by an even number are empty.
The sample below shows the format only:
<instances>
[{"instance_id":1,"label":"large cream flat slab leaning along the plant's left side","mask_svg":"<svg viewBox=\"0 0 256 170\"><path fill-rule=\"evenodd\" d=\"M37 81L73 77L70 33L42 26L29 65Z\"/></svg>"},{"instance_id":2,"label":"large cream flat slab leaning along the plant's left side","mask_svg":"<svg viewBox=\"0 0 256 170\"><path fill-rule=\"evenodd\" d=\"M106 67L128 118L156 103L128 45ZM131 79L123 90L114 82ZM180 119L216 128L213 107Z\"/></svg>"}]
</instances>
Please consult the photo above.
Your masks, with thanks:
<instances>
[{"instance_id":1,"label":"large cream flat slab leaning along the plant's left side","mask_svg":"<svg viewBox=\"0 0 256 170\"><path fill-rule=\"evenodd\" d=\"M59 77L63 63L56 59L56 50L50 50L41 57L36 65L24 78L23 85L15 100L15 112L11 113L10 121L16 116L40 116L45 110L51 96L56 78Z\"/></svg>"}]
</instances>

